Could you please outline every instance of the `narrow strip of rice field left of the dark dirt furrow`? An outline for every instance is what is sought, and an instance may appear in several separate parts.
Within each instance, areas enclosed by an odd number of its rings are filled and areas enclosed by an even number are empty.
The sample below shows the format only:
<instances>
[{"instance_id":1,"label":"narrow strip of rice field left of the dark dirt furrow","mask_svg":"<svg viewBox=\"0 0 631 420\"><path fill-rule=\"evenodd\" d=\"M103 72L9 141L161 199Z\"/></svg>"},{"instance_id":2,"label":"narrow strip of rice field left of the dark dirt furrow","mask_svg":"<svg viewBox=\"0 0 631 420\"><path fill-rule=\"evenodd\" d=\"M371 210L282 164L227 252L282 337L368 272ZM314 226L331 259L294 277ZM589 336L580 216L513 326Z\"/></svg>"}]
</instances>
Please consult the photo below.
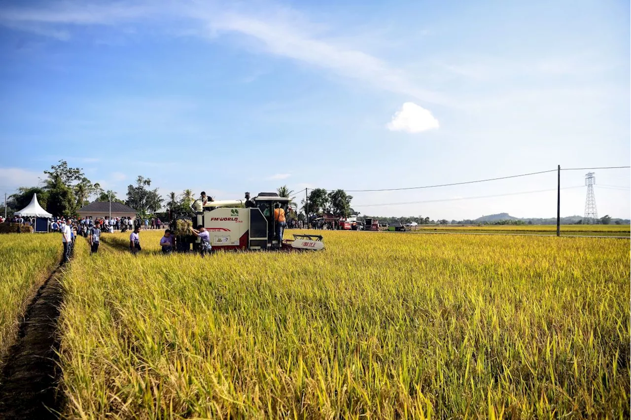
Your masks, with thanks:
<instances>
[{"instance_id":1,"label":"narrow strip of rice field left of the dark dirt furrow","mask_svg":"<svg viewBox=\"0 0 631 420\"><path fill-rule=\"evenodd\" d=\"M61 260L61 235L0 235L0 356L15 339L28 298ZM2 359L0 359L0 366Z\"/></svg>"}]
</instances>

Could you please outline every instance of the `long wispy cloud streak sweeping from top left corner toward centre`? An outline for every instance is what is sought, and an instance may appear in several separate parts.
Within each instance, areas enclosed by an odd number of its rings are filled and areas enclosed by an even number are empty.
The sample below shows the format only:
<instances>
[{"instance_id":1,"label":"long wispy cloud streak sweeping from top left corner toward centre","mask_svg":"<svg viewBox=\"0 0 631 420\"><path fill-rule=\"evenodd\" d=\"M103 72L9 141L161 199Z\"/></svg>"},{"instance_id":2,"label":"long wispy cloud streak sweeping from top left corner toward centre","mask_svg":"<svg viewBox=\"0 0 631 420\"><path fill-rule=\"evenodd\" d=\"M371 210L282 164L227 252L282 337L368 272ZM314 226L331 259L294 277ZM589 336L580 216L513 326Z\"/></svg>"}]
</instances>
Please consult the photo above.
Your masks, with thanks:
<instances>
[{"instance_id":1,"label":"long wispy cloud streak sweeping from top left corner toward centre","mask_svg":"<svg viewBox=\"0 0 631 420\"><path fill-rule=\"evenodd\" d=\"M445 95L422 88L410 76L386 61L346 45L340 37L319 35L320 26L292 9L266 3L264 11L239 4L218 7L214 3L55 3L47 8L0 8L0 24L22 30L38 28L54 31L48 35L68 39L61 25L115 25L131 21L160 24L167 33L184 31L216 40L225 35L241 35L256 40L256 48L269 54L331 71L345 79L359 81L378 90L407 95L429 103L448 105ZM49 25L49 26L45 26ZM184 26L184 28L182 28ZM200 29L206 28L206 29ZM47 35L39 31L40 35Z\"/></svg>"}]
</instances>

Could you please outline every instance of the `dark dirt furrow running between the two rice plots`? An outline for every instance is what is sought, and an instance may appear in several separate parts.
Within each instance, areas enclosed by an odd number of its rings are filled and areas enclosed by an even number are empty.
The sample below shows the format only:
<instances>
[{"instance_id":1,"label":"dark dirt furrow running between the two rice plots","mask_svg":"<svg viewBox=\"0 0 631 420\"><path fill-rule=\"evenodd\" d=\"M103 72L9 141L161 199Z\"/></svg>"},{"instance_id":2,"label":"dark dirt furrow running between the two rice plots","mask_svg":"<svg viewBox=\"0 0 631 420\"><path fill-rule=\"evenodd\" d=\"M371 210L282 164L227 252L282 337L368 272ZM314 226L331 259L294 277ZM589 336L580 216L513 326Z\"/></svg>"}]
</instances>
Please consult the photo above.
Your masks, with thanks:
<instances>
[{"instance_id":1,"label":"dark dirt furrow running between the two rice plots","mask_svg":"<svg viewBox=\"0 0 631 420\"><path fill-rule=\"evenodd\" d=\"M1 419L56 419L63 395L57 395L61 371L57 320L63 293L62 265L38 289L20 324L0 374Z\"/></svg>"}]
</instances>

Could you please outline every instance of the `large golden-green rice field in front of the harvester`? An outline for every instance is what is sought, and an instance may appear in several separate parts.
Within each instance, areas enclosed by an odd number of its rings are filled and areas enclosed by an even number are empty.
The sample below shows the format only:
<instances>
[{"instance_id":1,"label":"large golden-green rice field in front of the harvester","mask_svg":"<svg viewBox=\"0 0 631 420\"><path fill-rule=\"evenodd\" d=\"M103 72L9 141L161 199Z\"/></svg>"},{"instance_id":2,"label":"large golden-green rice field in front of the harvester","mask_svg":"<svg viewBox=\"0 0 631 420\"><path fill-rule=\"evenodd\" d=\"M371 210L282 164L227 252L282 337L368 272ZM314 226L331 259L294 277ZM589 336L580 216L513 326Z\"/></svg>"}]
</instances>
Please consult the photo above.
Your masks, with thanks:
<instances>
[{"instance_id":1,"label":"large golden-green rice field in front of the harvester","mask_svg":"<svg viewBox=\"0 0 631 420\"><path fill-rule=\"evenodd\" d=\"M78 238L64 416L631 416L631 242L322 234L205 259Z\"/></svg>"}]
</instances>

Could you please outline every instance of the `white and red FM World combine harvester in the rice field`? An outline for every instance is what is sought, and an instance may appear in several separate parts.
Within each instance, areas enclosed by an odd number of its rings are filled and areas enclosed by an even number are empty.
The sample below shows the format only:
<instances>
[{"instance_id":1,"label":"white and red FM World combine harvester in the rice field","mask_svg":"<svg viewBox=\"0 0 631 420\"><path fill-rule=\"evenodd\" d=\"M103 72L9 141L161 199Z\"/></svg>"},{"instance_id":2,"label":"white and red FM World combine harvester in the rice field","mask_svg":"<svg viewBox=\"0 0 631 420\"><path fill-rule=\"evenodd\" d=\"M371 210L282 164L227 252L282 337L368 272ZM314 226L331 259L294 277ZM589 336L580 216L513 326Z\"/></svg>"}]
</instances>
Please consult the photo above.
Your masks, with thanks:
<instances>
[{"instance_id":1,"label":"white and red FM World combine harvester in the rice field","mask_svg":"<svg viewBox=\"0 0 631 420\"><path fill-rule=\"evenodd\" d=\"M204 205L197 200L191 206L194 213L191 219L194 227L206 228L215 250L323 250L321 235L293 235L293 239L278 240L274 204L286 209L289 201L275 192L259 193L251 207L245 208L242 207L245 200L208 201ZM189 247L187 238L176 237L176 242ZM194 250L199 243L201 240L197 238Z\"/></svg>"}]
</instances>

